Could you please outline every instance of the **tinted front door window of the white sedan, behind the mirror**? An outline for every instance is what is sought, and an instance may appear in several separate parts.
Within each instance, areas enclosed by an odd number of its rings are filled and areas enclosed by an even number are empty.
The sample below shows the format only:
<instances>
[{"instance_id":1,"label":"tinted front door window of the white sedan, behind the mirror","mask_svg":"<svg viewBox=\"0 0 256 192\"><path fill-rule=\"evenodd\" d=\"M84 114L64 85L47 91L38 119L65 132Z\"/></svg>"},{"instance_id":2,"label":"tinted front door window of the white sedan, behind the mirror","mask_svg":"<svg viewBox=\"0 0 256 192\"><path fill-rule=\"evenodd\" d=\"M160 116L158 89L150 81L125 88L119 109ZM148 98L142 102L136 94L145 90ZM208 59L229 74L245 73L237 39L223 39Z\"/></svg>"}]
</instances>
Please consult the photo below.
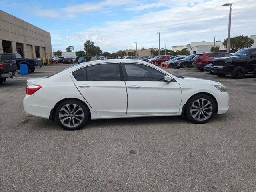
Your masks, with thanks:
<instances>
[{"instance_id":1,"label":"tinted front door window of the white sedan, behind the mirror","mask_svg":"<svg viewBox=\"0 0 256 192\"><path fill-rule=\"evenodd\" d=\"M164 74L142 64L124 64L128 81L164 81Z\"/></svg>"}]
</instances>

